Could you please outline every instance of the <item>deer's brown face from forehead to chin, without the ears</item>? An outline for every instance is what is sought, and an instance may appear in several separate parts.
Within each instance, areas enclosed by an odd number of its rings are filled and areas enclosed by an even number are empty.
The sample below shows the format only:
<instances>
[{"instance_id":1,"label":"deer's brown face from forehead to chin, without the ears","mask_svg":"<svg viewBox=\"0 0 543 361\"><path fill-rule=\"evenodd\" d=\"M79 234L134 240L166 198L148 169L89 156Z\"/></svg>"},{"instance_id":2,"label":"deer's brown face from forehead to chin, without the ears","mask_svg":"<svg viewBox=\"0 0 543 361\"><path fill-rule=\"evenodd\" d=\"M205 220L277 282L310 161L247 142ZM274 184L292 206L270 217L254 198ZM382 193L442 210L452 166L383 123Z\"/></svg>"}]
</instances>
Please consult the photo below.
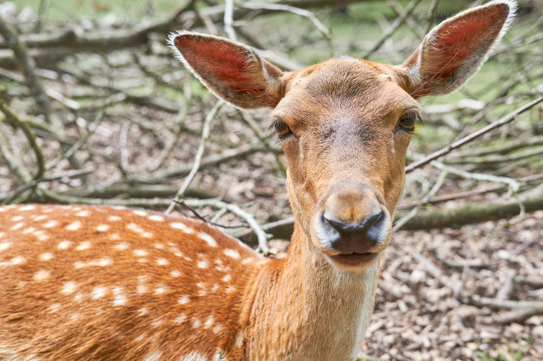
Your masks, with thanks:
<instances>
[{"instance_id":1,"label":"deer's brown face from forehead to chin, without the ears","mask_svg":"<svg viewBox=\"0 0 543 361\"><path fill-rule=\"evenodd\" d=\"M286 82L273 127L296 216L334 265L368 266L392 236L418 104L394 68L352 57Z\"/></svg>"}]
</instances>

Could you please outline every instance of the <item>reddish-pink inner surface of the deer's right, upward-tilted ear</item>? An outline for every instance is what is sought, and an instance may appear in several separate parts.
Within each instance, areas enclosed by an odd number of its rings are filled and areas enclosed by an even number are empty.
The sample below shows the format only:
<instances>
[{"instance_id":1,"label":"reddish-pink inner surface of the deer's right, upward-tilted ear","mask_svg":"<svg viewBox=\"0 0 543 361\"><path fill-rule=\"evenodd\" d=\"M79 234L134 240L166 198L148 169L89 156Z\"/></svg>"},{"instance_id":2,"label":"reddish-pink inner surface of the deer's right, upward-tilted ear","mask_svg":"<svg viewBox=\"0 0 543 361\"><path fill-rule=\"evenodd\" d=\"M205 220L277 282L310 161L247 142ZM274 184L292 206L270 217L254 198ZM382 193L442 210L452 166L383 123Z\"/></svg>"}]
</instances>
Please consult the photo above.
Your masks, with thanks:
<instances>
[{"instance_id":1,"label":"reddish-pink inner surface of the deer's right, upward-tilted ear","mask_svg":"<svg viewBox=\"0 0 543 361\"><path fill-rule=\"evenodd\" d=\"M496 6L466 15L437 30L433 48L440 50L443 78L468 60L473 53L486 53L509 15L507 6Z\"/></svg>"}]
</instances>

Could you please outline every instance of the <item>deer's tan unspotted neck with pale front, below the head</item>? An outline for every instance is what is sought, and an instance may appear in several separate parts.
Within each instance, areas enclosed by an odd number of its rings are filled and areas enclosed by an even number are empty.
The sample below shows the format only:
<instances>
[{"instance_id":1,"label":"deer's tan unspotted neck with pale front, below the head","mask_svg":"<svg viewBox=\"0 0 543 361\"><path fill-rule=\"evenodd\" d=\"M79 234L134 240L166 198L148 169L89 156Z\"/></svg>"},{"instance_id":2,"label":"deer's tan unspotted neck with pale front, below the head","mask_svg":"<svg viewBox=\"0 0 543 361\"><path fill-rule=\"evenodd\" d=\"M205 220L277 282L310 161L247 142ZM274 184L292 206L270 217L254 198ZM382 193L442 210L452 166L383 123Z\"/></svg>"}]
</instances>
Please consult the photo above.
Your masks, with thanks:
<instances>
[{"instance_id":1,"label":"deer's tan unspotted neck with pale front, below the head","mask_svg":"<svg viewBox=\"0 0 543 361\"><path fill-rule=\"evenodd\" d=\"M296 220L288 257L264 266L252 287L248 359L356 359L377 274L377 265L359 272L333 267Z\"/></svg>"}]
</instances>

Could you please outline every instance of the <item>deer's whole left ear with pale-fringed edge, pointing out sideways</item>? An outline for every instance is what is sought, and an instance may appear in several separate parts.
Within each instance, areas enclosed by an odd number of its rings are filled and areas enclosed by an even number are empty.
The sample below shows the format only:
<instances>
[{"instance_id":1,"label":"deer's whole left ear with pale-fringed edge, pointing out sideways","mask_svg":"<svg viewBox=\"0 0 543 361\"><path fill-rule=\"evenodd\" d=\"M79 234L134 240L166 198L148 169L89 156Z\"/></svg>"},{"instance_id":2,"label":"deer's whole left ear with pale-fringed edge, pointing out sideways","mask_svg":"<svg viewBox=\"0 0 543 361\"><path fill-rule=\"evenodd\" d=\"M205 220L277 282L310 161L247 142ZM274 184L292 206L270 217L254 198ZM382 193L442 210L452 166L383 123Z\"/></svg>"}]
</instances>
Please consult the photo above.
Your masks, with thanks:
<instances>
[{"instance_id":1,"label":"deer's whole left ear with pale-fringed edge, pointing out sideways","mask_svg":"<svg viewBox=\"0 0 543 361\"><path fill-rule=\"evenodd\" d=\"M171 34L168 43L205 87L237 108L274 108L285 94L283 72L245 44L191 31Z\"/></svg>"}]
</instances>

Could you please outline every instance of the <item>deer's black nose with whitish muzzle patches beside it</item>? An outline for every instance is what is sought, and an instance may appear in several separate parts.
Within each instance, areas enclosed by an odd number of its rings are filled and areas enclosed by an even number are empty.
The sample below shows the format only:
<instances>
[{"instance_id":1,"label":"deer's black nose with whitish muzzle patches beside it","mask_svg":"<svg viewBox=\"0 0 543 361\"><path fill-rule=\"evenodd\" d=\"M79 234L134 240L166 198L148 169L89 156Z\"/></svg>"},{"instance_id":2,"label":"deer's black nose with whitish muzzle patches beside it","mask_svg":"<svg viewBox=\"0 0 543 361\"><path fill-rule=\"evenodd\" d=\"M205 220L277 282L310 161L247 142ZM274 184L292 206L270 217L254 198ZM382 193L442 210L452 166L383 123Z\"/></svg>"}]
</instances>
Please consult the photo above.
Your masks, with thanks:
<instances>
[{"instance_id":1,"label":"deer's black nose with whitish muzzle patches beside it","mask_svg":"<svg viewBox=\"0 0 543 361\"><path fill-rule=\"evenodd\" d=\"M362 222L347 223L332 220L324 214L321 216L321 222L324 223L324 228L328 228L329 233L332 233L330 234L332 248L342 253L364 253L364 249L374 246L380 240L386 218L385 212L380 209L364 218Z\"/></svg>"}]
</instances>

